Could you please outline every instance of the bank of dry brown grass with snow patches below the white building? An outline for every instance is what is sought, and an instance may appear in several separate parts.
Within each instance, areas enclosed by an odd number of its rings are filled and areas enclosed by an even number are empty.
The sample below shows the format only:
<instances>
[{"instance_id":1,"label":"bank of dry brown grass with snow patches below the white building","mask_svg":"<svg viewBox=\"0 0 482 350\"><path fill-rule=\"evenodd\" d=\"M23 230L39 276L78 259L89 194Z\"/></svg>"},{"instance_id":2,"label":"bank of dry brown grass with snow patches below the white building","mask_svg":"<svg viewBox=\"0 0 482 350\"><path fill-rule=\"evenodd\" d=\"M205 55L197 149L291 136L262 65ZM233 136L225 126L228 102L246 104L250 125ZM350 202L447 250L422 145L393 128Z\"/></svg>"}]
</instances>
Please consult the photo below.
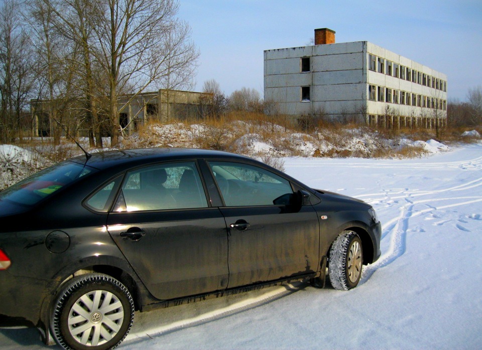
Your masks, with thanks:
<instances>
[{"instance_id":1,"label":"bank of dry brown grass with snow patches below the white building","mask_svg":"<svg viewBox=\"0 0 482 350\"><path fill-rule=\"evenodd\" d=\"M400 146L401 139L436 139L435 130L402 128L397 130L374 129L350 123L328 123L314 126L293 125L288 118L266 116L259 113L233 112L220 118L185 121L168 125L147 124L125 147L196 147L246 154L261 158L282 156L315 157L397 157L411 158L424 155L423 147ZM300 132L306 129L306 133ZM308 130L309 129L309 130ZM162 130L162 131L156 131ZM440 133L441 130L439 130ZM444 129L444 135L460 134L463 130ZM448 138L448 137L447 137ZM254 142L258 142L255 144ZM262 145L260 145L262 143ZM261 150L260 148L261 147Z\"/></svg>"}]
</instances>

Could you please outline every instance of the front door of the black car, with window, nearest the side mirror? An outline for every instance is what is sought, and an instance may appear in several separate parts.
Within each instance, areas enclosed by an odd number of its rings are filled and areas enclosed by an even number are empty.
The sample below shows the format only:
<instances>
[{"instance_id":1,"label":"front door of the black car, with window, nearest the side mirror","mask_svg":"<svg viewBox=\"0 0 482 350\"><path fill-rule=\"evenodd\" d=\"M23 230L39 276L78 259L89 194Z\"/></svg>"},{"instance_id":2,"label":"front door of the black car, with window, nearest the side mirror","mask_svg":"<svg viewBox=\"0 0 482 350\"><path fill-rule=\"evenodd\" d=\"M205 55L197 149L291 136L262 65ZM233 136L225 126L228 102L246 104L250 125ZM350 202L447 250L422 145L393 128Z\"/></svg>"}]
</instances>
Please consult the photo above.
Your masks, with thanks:
<instances>
[{"instance_id":1,"label":"front door of the black car, with window, nearest the side mirror","mask_svg":"<svg viewBox=\"0 0 482 350\"><path fill-rule=\"evenodd\" d=\"M318 271L319 223L293 205L290 182L265 168L209 161L228 227L228 288Z\"/></svg>"}]
</instances>

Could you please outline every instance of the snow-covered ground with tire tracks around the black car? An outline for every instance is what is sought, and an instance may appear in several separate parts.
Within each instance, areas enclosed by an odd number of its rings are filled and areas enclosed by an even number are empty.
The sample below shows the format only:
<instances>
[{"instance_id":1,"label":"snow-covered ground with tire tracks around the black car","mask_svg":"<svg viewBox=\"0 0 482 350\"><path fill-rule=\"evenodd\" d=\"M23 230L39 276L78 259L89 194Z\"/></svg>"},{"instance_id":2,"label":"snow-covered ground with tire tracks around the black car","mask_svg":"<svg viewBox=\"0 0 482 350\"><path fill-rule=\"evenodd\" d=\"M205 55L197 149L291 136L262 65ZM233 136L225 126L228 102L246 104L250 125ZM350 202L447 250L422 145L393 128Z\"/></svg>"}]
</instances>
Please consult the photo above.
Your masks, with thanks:
<instances>
[{"instance_id":1,"label":"snow-covered ground with tire tracks around the black car","mask_svg":"<svg viewBox=\"0 0 482 350\"><path fill-rule=\"evenodd\" d=\"M144 313L119 348L480 348L482 144L418 159L285 158L307 185L371 203L382 257L343 292L297 283ZM0 347L45 348L0 329Z\"/></svg>"}]
</instances>

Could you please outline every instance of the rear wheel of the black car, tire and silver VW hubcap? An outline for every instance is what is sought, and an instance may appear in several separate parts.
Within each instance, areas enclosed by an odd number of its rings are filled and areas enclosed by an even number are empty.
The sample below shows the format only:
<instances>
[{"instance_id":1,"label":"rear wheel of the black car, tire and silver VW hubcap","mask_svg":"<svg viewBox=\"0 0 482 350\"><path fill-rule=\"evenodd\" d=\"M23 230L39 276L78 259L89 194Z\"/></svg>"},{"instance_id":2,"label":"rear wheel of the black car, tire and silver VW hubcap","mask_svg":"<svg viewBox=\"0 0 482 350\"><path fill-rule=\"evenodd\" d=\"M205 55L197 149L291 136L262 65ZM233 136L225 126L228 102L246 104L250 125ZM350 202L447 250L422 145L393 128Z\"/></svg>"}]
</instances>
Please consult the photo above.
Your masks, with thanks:
<instances>
[{"instance_id":1,"label":"rear wheel of the black car, tire and silver VW hubcap","mask_svg":"<svg viewBox=\"0 0 482 350\"><path fill-rule=\"evenodd\" d=\"M118 280L86 274L68 281L53 305L51 332L66 349L104 350L124 340L134 321L134 301Z\"/></svg>"}]
</instances>

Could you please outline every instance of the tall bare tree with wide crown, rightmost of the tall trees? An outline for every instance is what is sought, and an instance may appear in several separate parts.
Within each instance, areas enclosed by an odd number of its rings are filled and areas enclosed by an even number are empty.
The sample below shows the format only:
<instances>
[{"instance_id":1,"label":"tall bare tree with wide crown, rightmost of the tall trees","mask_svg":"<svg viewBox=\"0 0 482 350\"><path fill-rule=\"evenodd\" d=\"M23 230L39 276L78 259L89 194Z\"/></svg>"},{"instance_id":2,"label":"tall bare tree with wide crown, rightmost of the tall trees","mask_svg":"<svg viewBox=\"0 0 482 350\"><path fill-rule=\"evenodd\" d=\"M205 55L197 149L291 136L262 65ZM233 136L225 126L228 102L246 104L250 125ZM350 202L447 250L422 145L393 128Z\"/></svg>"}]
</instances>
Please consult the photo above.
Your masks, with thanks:
<instances>
[{"instance_id":1,"label":"tall bare tree with wide crown, rightmost of the tall trees","mask_svg":"<svg viewBox=\"0 0 482 350\"><path fill-rule=\"evenodd\" d=\"M114 145L120 128L117 101L127 84L134 89L132 98L163 83L167 89L189 86L199 52L189 41L187 23L175 18L178 2L98 1L102 11L91 26L99 47L98 61L109 84L108 114Z\"/></svg>"}]
</instances>

